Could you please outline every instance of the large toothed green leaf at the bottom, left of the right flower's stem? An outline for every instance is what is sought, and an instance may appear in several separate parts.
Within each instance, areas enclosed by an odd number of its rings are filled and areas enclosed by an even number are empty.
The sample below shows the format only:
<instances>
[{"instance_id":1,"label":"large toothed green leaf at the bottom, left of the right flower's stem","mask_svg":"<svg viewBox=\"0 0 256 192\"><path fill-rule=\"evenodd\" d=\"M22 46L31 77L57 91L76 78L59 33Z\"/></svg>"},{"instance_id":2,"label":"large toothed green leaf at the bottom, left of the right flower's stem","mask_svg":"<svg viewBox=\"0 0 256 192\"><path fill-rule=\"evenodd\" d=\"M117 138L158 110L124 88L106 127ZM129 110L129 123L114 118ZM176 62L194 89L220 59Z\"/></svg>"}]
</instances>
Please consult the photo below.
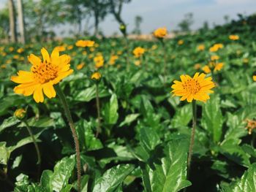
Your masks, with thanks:
<instances>
[{"instance_id":1,"label":"large toothed green leaf at the bottom, left of the right flower's stem","mask_svg":"<svg viewBox=\"0 0 256 192\"><path fill-rule=\"evenodd\" d=\"M176 192L191 183L187 180L187 139L172 139L152 164L144 164L143 184L147 192Z\"/></svg>"}]
</instances>

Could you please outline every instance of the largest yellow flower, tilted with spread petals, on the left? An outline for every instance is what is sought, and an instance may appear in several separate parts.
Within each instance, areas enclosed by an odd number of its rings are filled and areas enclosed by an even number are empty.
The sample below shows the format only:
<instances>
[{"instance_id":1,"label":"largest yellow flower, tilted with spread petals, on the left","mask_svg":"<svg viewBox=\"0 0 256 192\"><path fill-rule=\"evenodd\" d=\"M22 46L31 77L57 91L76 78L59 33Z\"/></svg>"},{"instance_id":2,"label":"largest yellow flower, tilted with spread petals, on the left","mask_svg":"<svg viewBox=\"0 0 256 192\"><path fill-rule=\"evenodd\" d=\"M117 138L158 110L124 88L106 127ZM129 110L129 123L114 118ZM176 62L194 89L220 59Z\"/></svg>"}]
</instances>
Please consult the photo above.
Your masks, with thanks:
<instances>
[{"instance_id":1,"label":"largest yellow flower, tilted with spread petals, on the left","mask_svg":"<svg viewBox=\"0 0 256 192\"><path fill-rule=\"evenodd\" d=\"M57 49L53 49L51 55L45 48L41 49L43 61L34 54L30 54L28 59L32 64L30 72L19 71L18 76L12 76L13 82L20 83L14 88L15 93L31 96L38 102L44 101L43 93L48 98L56 96L53 85L73 72L69 69L69 55L59 55ZM43 92L42 92L43 91Z\"/></svg>"}]
</instances>

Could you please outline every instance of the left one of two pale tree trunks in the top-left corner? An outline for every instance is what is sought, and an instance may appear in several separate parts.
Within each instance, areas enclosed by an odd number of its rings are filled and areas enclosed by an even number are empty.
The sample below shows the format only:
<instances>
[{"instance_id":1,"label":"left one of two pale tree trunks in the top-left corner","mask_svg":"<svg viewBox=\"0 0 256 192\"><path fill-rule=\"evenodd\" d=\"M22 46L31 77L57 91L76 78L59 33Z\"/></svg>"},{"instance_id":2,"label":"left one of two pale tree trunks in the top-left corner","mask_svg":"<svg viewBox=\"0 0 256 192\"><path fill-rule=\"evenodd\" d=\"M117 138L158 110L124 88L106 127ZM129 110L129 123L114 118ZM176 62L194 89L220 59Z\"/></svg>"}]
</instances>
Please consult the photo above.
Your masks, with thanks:
<instances>
[{"instance_id":1,"label":"left one of two pale tree trunks in the top-left corner","mask_svg":"<svg viewBox=\"0 0 256 192\"><path fill-rule=\"evenodd\" d=\"M11 42L17 42L16 22L15 22L15 7L14 7L14 3L13 3L12 0L8 1L8 7L9 7Z\"/></svg>"}]
</instances>

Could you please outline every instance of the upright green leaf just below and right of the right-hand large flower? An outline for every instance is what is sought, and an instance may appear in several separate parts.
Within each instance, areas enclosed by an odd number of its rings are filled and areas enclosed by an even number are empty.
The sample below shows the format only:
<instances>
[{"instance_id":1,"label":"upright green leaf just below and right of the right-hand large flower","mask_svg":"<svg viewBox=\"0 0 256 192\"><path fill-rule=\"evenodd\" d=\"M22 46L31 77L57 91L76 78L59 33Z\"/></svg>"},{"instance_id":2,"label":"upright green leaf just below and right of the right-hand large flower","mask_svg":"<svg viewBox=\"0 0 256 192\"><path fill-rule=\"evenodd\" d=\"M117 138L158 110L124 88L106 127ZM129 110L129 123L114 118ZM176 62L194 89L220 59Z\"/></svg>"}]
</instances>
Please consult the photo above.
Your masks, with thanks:
<instances>
[{"instance_id":1,"label":"upright green leaf just below and right of the right-hand large flower","mask_svg":"<svg viewBox=\"0 0 256 192\"><path fill-rule=\"evenodd\" d=\"M219 142L222 137L223 117L219 107L219 97L212 96L203 105L201 125L208 131L214 142Z\"/></svg>"}]
</instances>

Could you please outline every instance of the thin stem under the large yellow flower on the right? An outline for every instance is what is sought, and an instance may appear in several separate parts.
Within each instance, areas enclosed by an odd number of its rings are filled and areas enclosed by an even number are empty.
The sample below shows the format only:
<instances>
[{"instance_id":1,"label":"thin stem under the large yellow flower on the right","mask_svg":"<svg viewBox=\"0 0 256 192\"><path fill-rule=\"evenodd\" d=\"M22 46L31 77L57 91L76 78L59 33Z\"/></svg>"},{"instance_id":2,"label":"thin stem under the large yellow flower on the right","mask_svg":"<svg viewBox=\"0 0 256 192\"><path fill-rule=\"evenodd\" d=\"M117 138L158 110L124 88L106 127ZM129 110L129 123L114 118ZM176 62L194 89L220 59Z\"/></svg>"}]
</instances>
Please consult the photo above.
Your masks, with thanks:
<instances>
[{"instance_id":1,"label":"thin stem under the large yellow flower on the right","mask_svg":"<svg viewBox=\"0 0 256 192\"><path fill-rule=\"evenodd\" d=\"M191 164L194 141L195 141L195 127L197 122L197 105L195 103L195 100L192 101L192 113L193 113L192 132L191 132L190 144L189 144L189 155L187 158L187 177L189 177L190 164Z\"/></svg>"}]
</instances>

